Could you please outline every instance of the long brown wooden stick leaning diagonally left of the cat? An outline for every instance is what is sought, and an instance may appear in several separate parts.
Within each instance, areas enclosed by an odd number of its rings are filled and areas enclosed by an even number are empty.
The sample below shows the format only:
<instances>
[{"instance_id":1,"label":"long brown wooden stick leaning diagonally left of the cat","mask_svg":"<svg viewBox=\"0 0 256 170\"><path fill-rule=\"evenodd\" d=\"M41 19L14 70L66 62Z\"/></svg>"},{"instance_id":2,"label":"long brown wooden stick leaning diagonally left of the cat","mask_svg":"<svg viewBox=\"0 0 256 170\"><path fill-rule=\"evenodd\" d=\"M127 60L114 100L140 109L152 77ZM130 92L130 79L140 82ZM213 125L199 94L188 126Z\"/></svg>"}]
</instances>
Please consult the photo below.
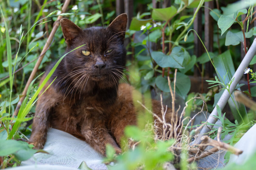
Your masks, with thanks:
<instances>
[{"instance_id":1,"label":"long brown wooden stick leaning diagonally left of the cat","mask_svg":"<svg viewBox=\"0 0 256 170\"><path fill-rule=\"evenodd\" d=\"M64 2L64 5L63 5L62 10L61 10L62 13L66 12L66 9L67 9L67 7L68 7L68 5L69 5L69 2L70 2L70 0L66 0L66 1ZM26 97L27 89L28 89L28 87L29 87L31 81L34 79L34 77L35 77L35 75L36 75L36 72L37 72L37 70L38 70L38 67L39 67L39 65L41 64L41 61L42 61L43 58L44 58L44 54L45 54L45 52L48 50L48 47L50 46L50 44L51 44L51 42L52 42L53 36L54 36L56 30L57 30L58 27L59 27L59 20L62 19L62 17L63 17L63 16L60 16L60 15L59 15L58 18L57 18L57 21L54 22L52 31L51 31L51 33L50 33L50 35L49 35L49 37L48 37L48 39L47 39L47 41L46 41L46 43L45 43L45 45L44 45L43 50L41 51L40 57L38 58L37 63L36 63L36 65L34 66L34 69L32 70L32 72L31 72L31 74L30 74L30 76L29 76L29 78L28 78L28 80L27 80L27 84L26 84L26 86L25 86L25 88L24 88L24 90L23 90L23 92L22 92L22 97L20 97L20 100L19 100L19 102L18 102L18 104L17 104L17 106L16 106L16 109L15 109L15 111L14 111L12 117L17 116L17 114L18 114L18 112L19 112L19 109L20 109L20 106L21 106L21 104L22 104L24 98Z\"/></svg>"}]
</instances>

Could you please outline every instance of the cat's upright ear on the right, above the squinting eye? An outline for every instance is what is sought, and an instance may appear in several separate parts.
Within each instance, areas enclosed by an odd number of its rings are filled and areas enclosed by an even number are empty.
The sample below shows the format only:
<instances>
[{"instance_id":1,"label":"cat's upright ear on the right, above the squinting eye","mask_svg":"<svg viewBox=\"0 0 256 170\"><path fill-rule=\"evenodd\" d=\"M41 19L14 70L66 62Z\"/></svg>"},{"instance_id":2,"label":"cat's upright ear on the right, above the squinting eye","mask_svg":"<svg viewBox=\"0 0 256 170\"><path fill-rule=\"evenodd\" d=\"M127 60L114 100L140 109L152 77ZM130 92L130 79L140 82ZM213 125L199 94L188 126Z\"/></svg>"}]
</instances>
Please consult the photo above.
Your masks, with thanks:
<instances>
[{"instance_id":1,"label":"cat's upright ear on the right, above the squinting eye","mask_svg":"<svg viewBox=\"0 0 256 170\"><path fill-rule=\"evenodd\" d=\"M126 13L120 14L111 22L108 26L108 29L118 33L123 39L125 37L125 29L127 24L127 15Z\"/></svg>"}]
</instances>

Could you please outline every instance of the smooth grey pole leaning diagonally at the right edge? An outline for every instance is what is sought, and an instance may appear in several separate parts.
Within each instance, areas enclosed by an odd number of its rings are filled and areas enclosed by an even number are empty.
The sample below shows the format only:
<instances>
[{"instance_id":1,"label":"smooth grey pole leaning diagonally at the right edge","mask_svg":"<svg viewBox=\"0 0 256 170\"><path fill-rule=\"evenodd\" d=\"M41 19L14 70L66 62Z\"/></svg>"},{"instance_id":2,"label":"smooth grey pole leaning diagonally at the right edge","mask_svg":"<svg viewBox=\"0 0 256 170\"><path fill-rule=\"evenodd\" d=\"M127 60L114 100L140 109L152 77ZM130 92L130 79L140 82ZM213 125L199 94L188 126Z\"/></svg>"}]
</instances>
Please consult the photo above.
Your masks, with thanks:
<instances>
[{"instance_id":1,"label":"smooth grey pole leaning diagonally at the right edge","mask_svg":"<svg viewBox=\"0 0 256 170\"><path fill-rule=\"evenodd\" d=\"M256 38L253 40L253 43L252 43L250 49L248 50L248 52L244 56L244 59L242 60L242 62L240 63L239 67L237 68L235 74L232 77L232 79L234 79L234 80L231 83L230 88L229 88L230 94L232 94L233 91L235 90L236 85L238 84L238 82L242 78L242 76L244 75L245 67L248 67L248 65L251 62L251 60L252 60L253 56L255 55L255 53L256 53ZM219 105L221 110L223 110L224 106L226 105L226 103L227 103L227 101L228 101L228 99L230 97L229 92L228 92L228 90L225 89L223 94L221 95L218 103L217 103L217 105ZM207 119L207 122L211 123L211 124L215 124L216 121L217 121L217 118L214 117L214 116L218 116L216 106L214 107L212 113L209 115L209 117ZM203 134L208 133L212 129L212 127L213 127L213 125L204 126L203 129L201 130L200 134L195 139L194 144L200 144L201 143L201 139L200 138L203 136Z\"/></svg>"}]
</instances>

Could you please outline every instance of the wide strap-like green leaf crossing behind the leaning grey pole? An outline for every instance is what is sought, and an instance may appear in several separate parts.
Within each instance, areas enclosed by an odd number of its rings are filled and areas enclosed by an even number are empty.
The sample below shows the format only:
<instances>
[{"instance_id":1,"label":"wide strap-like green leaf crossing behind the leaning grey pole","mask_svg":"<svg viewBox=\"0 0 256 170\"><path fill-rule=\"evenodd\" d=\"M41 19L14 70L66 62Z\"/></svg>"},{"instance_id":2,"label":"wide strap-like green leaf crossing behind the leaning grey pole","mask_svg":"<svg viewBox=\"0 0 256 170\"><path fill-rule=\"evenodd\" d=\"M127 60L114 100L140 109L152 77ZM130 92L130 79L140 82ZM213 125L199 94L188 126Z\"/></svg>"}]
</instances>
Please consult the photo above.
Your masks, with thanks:
<instances>
[{"instance_id":1,"label":"wide strap-like green leaf crossing behind the leaning grey pole","mask_svg":"<svg viewBox=\"0 0 256 170\"><path fill-rule=\"evenodd\" d=\"M225 76L227 73L226 79L224 80L225 84L227 84L231 80L231 78L233 77L233 75L235 73L235 68L234 68L234 64L233 64L233 60L232 60L230 51L227 50L224 53L220 54L219 56L213 58L213 63L219 72L220 77L219 77L219 75L218 75L218 77L220 80L221 80L221 78L223 80L223 76ZM224 88L224 86L222 86L222 88ZM238 88L238 90L240 90L240 88ZM233 114L233 117L235 118L235 120L237 120L239 122L239 124L243 123L243 120L245 123L247 123L248 117L247 117L247 111L246 111L244 104L238 103L235 100L235 97L233 94L231 96L233 97L235 103L233 103L233 100L231 98L229 98L228 104L229 104L230 110ZM237 106L241 116L239 115L238 111L236 110L236 106ZM243 117L243 119L241 117Z\"/></svg>"}]
</instances>

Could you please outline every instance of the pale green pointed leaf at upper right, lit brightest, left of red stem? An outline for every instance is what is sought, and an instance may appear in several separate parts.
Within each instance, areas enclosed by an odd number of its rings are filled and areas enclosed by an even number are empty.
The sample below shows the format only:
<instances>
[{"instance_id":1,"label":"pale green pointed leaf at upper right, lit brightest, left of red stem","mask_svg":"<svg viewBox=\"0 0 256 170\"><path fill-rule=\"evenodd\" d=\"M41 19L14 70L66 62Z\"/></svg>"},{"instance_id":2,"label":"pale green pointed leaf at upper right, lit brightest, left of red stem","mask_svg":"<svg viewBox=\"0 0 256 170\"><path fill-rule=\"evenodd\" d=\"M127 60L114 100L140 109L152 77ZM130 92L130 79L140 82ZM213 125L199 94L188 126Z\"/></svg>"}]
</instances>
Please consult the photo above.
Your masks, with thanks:
<instances>
[{"instance_id":1,"label":"pale green pointed leaf at upper right, lit brightest, left of red stem","mask_svg":"<svg viewBox=\"0 0 256 170\"><path fill-rule=\"evenodd\" d=\"M235 22L234 14L221 15L218 20L218 26L221 29L221 35Z\"/></svg>"}]
</instances>

